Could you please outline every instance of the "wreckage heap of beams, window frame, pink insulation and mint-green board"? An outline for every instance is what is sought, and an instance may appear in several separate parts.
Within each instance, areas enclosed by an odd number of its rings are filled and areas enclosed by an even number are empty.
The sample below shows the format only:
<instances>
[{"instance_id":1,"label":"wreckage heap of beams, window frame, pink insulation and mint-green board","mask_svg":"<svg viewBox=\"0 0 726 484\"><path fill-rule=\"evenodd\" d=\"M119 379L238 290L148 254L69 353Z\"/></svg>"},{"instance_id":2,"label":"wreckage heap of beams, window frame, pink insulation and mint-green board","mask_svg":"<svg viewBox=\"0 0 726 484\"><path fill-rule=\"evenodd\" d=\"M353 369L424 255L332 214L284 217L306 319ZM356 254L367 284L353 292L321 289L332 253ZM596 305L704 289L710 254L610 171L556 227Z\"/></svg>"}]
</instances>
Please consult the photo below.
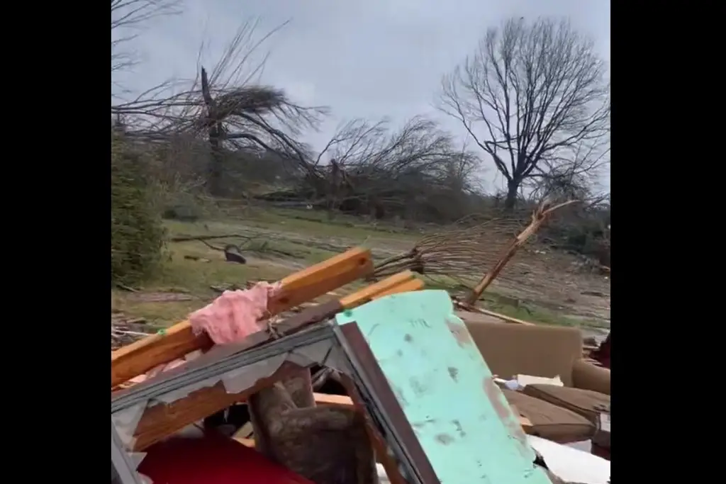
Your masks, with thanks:
<instances>
[{"instance_id":1,"label":"wreckage heap of beams, window frame, pink insulation and mint-green board","mask_svg":"<svg viewBox=\"0 0 726 484\"><path fill-rule=\"evenodd\" d=\"M373 270L348 250L147 337L112 316L112 346L136 341L111 356L112 480L552 482L533 422L497 387L511 375L492 374L449 295L418 292L408 270L340 295ZM232 308L263 299L251 320Z\"/></svg>"}]
</instances>

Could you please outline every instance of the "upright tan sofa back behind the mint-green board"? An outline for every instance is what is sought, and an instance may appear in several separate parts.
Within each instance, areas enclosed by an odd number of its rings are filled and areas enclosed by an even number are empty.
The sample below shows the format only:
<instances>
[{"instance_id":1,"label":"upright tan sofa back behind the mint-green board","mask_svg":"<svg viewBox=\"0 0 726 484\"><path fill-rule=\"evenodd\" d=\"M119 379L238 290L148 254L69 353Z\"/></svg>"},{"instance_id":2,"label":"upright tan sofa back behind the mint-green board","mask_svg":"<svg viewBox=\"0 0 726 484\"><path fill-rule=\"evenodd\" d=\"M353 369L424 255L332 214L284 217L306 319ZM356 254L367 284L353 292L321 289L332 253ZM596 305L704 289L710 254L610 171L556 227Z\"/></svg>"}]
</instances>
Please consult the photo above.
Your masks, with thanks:
<instances>
[{"instance_id":1,"label":"upright tan sofa back behind the mint-green board","mask_svg":"<svg viewBox=\"0 0 726 484\"><path fill-rule=\"evenodd\" d=\"M492 322L491 316L457 311L493 374L508 379L517 374L554 378L573 386L572 366L582 358L582 333L546 324L526 326Z\"/></svg>"}]
</instances>

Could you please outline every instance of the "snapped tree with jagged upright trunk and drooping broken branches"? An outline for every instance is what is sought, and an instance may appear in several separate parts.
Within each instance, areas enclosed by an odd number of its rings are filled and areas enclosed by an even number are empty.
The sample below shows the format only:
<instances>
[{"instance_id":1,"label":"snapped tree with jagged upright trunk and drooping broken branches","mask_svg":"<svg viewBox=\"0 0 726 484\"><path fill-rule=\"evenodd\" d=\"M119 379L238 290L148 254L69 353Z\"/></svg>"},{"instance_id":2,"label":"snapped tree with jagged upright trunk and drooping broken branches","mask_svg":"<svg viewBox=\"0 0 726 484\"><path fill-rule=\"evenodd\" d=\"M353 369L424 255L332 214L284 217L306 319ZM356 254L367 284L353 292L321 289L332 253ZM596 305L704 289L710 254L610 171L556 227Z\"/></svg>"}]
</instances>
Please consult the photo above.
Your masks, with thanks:
<instances>
[{"instance_id":1,"label":"snapped tree with jagged upright trunk and drooping broken branches","mask_svg":"<svg viewBox=\"0 0 726 484\"><path fill-rule=\"evenodd\" d=\"M201 67L190 85L179 89L169 81L111 108L131 126L129 136L156 144L184 140L187 149L204 149L205 184L215 196L223 194L224 166L237 150L274 152L316 173L309 149L296 139L316 128L326 110L295 104L282 89L253 82L266 58L255 63L253 53L286 23L263 36L256 35L257 25L243 23L214 67ZM200 139L206 144L191 142Z\"/></svg>"}]
</instances>

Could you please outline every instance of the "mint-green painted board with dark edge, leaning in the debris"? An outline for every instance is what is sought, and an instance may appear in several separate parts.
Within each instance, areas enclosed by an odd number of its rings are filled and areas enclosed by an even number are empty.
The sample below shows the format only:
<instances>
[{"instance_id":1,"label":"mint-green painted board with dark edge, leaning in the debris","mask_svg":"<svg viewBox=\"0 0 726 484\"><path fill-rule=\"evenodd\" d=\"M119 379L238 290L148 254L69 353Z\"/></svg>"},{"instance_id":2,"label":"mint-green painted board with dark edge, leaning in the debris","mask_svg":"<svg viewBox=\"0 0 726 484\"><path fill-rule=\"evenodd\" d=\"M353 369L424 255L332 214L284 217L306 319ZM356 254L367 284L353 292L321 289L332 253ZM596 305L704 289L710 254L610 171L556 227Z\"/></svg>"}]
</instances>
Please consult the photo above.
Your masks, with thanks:
<instances>
[{"instance_id":1,"label":"mint-green painted board with dark edge, leaning in the debris","mask_svg":"<svg viewBox=\"0 0 726 484\"><path fill-rule=\"evenodd\" d=\"M337 319L424 482L550 484L445 291L391 295Z\"/></svg>"}]
</instances>

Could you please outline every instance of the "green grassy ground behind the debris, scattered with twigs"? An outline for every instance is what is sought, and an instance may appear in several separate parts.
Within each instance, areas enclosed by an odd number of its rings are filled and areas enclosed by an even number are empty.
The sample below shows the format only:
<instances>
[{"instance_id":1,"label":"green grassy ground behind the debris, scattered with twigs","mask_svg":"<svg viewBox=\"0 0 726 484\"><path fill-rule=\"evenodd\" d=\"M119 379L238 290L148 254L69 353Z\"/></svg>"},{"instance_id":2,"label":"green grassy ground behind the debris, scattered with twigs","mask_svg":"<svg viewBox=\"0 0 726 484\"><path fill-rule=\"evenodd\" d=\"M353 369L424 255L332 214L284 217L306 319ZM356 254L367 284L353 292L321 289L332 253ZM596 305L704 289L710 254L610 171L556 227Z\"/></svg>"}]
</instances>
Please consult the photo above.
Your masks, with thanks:
<instances>
[{"instance_id":1,"label":"green grassy ground behind the debris, scattered with twigs","mask_svg":"<svg viewBox=\"0 0 726 484\"><path fill-rule=\"evenodd\" d=\"M113 310L165 327L185 319L189 312L213 300L218 292L211 286L242 286L250 279L281 279L351 245L364 244L372 248L387 246L405 250L412 247L422 235L420 229L407 231L396 226L376 227L354 218L339 216L328 221L325 213L306 210L245 210L244 217L244 223L229 220L197 223L167 221L171 237L210 234L241 236L209 242L218 247L227 243L239 245L248 263L228 263L224 261L221 251L207 247L202 242L171 242L168 245L168 260L155 280L144 284L139 292L112 290ZM311 242L313 240L316 242ZM330 241L330 246L321 242L326 240ZM427 286L450 290L456 288L457 282L442 278L428 282ZM147 302L141 295L147 292L181 292L192 300ZM582 324L582 321L497 292L486 292L480 304L492 311L526 321L567 326Z\"/></svg>"}]
</instances>

